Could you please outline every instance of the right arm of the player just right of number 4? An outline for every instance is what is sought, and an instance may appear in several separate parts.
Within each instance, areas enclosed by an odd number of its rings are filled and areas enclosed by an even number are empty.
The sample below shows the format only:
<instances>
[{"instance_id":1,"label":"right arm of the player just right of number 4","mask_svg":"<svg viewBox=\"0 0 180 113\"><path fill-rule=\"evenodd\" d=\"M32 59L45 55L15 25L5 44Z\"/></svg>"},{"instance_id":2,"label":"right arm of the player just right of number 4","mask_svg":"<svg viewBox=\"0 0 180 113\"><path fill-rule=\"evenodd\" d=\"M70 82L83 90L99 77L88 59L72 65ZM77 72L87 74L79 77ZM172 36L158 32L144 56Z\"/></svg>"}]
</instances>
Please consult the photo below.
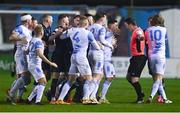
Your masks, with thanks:
<instances>
[{"instance_id":1,"label":"right arm of the player just right of number 4","mask_svg":"<svg viewBox=\"0 0 180 113\"><path fill-rule=\"evenodd\" d=\"M107 47L110 47L111 49L113 49L113 46L111 43L109 43L107 40L105 40L105 36L106 36L106 30L104 28L102 28L99 32L99 40L100 42Z\"/></svg>"}]
</instances>

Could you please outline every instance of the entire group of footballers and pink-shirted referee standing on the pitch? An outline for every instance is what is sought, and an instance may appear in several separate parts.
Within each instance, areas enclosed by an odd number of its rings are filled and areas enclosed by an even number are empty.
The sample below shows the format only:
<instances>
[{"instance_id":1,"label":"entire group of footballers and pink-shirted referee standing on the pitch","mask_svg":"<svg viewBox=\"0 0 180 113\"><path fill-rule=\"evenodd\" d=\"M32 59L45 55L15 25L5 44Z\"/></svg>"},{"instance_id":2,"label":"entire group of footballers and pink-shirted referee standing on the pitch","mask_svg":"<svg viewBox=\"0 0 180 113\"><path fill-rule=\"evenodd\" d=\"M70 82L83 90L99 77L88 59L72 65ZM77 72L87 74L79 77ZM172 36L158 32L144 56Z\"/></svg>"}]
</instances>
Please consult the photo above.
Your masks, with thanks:
<instances>
[{"instance_id":1,"label":"entire group of footballers and pink-shirted referee standing on the pitch","mask_svg":"<svg viewBox=\"0 0 180 113\"><path fill-rule=\"evenodd\" d=\"M50 104L71 104L71 92L75 88L74 102L110 103L106 94L115 76L111 57L117 43L115 35L120 32L116 20L108 20L104 13L98 13L94 17L89 14L76 15L70 23L70 17L61 14L53 32L53 17L49 14L43 15L41 24L30 14L22 14L20 20L21 25L9 37L16 45L14 59L17 74L17 79L7 92L9 102L14 105L22 102L24 87L30 84L33 76L34 86L27 103L42 104L43 92L50 78L51 86L45 93ZM148 58L154 83L147 102L151 103L159 90L162 102L172 103L167 99L162 85L167 32L163 26L164 20L160 15L155 15L150 23L144 33L132 18L125 20L125 26L133 32L127 80L136 90L136 103L143 103L144 93L138 81ZM145 44L148 45L146 56ZM51 45L54 47L52 62L49 60ZM98 91L103 75L102 90Z\"/></svg>"}]
</instances>

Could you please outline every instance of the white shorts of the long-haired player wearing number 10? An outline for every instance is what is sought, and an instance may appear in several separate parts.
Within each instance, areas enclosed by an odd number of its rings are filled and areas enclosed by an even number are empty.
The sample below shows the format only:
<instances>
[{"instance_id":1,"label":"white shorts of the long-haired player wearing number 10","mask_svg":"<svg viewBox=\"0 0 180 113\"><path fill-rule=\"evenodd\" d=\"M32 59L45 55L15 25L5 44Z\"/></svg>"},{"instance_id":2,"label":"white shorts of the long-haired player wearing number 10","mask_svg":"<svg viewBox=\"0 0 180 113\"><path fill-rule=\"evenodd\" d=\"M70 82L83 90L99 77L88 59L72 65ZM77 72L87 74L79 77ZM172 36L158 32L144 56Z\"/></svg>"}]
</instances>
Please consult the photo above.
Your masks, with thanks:
<instances>
[{"instance_id":1,"label":"white shorts of the long-haired player wearing number 10","mask_svg":"<svg viewBox=\"0 0 180 113\"><path fill-rule=\"evenodd\" d=\"M154 74L164 75L165 66L166 66L165 58L151 57L149 58L149 63L153 75Z\"/></svg>"}]
</instances>

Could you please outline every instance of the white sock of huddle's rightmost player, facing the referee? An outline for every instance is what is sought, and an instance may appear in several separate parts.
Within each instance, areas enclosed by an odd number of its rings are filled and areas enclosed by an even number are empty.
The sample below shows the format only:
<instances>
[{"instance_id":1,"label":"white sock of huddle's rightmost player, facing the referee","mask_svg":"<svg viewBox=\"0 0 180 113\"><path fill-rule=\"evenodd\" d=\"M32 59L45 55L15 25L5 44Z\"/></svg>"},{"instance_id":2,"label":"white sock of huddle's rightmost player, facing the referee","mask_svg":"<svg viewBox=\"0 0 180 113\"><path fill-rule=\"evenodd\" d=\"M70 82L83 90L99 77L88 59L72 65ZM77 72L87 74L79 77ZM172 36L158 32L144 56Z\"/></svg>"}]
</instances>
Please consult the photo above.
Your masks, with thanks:
<instances>
[{"instance_id":1,"label":"white sock of huddle's rightmost player, facing the referee","mask_svg":"<svg viewBox=\"0 0 180 113\"><path fill-rule=\"evenodd\" d=\"M108 81L108 80L104 81L102 91L101 91L101 99L106 99L106 94L107 94L107 91L108 91L110 85L111 85L110 81Z\"/></svg>"}]
</instances>

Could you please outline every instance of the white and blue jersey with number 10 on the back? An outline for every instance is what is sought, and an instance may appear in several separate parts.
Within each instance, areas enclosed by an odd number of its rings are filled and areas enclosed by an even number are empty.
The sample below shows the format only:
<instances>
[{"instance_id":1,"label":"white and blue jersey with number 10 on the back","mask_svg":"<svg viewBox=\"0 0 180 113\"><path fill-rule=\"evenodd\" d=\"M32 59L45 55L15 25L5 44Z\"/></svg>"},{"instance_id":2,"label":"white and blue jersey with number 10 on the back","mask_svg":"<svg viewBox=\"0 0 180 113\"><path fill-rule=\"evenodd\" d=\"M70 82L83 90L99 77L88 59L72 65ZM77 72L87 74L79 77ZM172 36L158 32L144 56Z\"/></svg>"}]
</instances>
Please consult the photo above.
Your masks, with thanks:
<instances>
[{"instance_id":1,"label":"white and blue jersey with number 10 on the back","mask_svg":"<svg viewBox=\"0 0 180 113\"><path fill-rule=\"evenodd\" d=\"M167 39L167 30L165 27L152 26L146 31L148 40L149 56L165 57L165 40Z\"/></svg>"}]
</instances>

